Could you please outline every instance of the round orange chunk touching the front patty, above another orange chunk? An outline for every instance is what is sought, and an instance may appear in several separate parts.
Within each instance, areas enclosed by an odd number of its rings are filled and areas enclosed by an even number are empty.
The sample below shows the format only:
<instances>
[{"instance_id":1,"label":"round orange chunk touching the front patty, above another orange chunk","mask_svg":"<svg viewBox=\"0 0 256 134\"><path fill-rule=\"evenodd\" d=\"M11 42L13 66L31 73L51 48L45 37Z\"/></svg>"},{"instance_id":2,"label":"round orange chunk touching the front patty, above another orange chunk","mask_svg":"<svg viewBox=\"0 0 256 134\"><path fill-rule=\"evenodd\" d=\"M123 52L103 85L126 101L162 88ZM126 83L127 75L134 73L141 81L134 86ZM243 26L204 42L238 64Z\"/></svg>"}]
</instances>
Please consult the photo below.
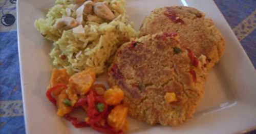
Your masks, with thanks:
<instances>
[{"instance_id":1,"label":"round orange chunk touching the front patty, above another orange chunk","mask_svg":"<svg viewBox=\"0 0 256 134\"><path fill-rule=\"evenodd\" d=\"M109 105L119 104L123 100L123 97L123 91L117 86L114 86L109 90L106 90L104 93L105 102Z\"/></svg>"}]
</instances>

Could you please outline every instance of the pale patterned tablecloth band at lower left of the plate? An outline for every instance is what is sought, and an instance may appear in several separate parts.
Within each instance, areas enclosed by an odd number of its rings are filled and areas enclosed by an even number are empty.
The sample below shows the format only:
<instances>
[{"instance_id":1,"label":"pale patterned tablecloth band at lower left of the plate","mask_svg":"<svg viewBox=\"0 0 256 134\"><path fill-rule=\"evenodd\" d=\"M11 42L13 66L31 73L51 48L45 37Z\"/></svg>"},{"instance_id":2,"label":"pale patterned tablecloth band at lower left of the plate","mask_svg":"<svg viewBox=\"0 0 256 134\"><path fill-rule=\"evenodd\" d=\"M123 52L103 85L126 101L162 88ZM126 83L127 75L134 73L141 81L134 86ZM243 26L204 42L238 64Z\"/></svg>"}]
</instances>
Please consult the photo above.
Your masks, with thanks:
<instances>
[{"instance_id":1,"label":"pale patterned tablecloth band at lower left of the plate","mask_svg":"<svg viewBox=\"0 0 256 134\"><path fill-rule=\"evenodd\" d=\"M0 117L23 116L22 100L0 101Z\"/></svg>"}]
</instances>

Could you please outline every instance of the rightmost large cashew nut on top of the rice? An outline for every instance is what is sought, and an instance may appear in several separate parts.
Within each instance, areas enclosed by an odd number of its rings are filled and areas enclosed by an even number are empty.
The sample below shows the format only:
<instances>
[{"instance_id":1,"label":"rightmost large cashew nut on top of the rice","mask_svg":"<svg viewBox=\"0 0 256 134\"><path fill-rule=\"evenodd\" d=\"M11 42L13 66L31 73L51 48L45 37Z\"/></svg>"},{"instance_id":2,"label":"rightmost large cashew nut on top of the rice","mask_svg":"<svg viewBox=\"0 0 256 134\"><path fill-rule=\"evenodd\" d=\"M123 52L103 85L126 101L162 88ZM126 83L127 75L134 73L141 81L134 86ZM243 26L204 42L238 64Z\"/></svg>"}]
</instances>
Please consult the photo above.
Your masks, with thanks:
<instances>
[{"instance_id":1,"label":"rightmost large cashew nut on top of the rice","mask_svg":"<svg viewBox=\"0 0 256 134\"><path fill-rule=\"evenodd\" d=\"M93 5L93 11L98 17L103 19L113 20L115 18L115 15L112 13L109 7L101 2Z\"/></svg>"}]
</instances>

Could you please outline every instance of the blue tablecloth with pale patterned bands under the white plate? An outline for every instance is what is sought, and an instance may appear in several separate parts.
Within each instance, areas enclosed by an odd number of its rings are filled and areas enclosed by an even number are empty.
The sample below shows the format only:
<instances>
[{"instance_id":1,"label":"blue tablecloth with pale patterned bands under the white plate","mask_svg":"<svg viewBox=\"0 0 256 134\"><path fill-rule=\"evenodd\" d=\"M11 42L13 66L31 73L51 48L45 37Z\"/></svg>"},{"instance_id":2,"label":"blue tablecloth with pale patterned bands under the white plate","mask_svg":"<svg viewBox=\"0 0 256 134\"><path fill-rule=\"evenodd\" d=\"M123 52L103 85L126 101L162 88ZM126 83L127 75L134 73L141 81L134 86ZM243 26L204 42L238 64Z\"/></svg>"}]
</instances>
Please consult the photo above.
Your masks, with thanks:
<instances>
[{"instance_id":1,"label":"blue tablecloth with pale patterned bands under the white plate","mask_svg":"<svg viewBox=\"0 0 256 134\"><path fill-rule=\"evenodd\" d=\"M256 1L215 0L256 67ZM16 0L0 0L0 133L25 133L20 88ZM251 132L256 133L256 131Z\"/></svg>"}]
</instances>

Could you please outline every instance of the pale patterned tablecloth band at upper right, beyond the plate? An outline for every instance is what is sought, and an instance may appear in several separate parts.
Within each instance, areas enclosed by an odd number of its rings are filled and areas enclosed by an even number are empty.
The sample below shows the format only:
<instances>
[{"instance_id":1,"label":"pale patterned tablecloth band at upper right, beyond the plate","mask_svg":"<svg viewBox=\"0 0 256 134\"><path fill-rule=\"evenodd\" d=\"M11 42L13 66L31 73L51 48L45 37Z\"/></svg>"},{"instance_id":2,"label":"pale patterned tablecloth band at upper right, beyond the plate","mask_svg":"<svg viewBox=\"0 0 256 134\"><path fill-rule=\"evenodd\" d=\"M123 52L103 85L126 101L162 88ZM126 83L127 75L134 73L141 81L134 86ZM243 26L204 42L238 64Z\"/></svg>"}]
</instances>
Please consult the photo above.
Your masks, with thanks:
<instances>
[{"instance_id":1,"label":"pale patterned tablecloth band at upper right, beyond the plate","mask_svg":"<svg viewBox=\"0 0 256 134\"><path fill-rule=\"evenodd\" d=\"M235 28L233 28L234 34L236 34L238 40L243 40L247 35L256 29L256 10L251 13L246 19L240 22Z\"/></svg>"}]
</instances>

